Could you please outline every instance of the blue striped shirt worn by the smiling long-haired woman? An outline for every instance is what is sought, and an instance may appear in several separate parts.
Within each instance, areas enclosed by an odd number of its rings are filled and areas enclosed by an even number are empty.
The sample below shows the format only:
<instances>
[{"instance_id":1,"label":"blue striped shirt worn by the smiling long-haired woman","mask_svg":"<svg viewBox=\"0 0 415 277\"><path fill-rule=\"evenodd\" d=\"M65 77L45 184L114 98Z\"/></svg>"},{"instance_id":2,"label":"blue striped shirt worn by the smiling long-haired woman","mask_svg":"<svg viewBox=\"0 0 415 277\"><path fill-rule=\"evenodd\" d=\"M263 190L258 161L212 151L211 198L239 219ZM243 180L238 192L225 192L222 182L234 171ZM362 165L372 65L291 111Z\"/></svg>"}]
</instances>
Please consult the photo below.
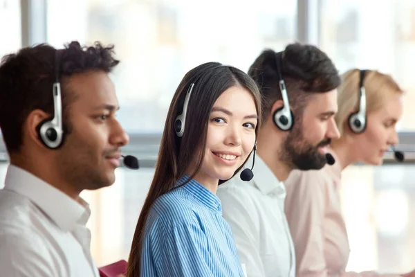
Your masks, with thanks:
<instances>
[{"instance_id":1,"label":"blue striped shirt worn by the smiling long-haired woman","mask_svg":"<svg viewBox=\"0 0 415 277\"><path fill-rule=\"evenodd\" d=\"M194 179L156 199L145 225L141 257L145 277L243 276L221 201Z\"/></svg>"}]
</instances>

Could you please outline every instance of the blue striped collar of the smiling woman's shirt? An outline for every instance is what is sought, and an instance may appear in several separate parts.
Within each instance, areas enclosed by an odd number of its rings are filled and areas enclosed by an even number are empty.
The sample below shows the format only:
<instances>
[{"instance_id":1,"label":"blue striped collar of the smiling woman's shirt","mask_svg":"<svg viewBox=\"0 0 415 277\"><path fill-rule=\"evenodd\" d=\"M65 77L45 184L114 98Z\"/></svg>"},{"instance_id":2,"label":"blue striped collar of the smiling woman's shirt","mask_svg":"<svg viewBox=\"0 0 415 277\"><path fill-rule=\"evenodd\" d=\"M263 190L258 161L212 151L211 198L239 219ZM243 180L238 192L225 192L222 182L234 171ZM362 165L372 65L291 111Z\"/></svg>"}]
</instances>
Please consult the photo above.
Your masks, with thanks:
<instances>
[{"instance_id":1,"label":"blue striped collar of the smiling woman's shirt","mask_svg":"<svg viewBox=\"0 0 415 277\"><path fill-rule=\"evenodd\" d=\"M178 184L183 184L185 181L187 181L187 179L189 179L189 176L183 176L178 181ZM203 205L207 206L208 208L212 208L214 211L219 211L219 213L222 213L221 200L219 200L216 195L214 195L210 190L208 190L208 188L205 188L195 179L191 179L187 184L185 184L184 188L187 193L190 193L190 195L196 198Z\"/></svg>"}]
</instances>

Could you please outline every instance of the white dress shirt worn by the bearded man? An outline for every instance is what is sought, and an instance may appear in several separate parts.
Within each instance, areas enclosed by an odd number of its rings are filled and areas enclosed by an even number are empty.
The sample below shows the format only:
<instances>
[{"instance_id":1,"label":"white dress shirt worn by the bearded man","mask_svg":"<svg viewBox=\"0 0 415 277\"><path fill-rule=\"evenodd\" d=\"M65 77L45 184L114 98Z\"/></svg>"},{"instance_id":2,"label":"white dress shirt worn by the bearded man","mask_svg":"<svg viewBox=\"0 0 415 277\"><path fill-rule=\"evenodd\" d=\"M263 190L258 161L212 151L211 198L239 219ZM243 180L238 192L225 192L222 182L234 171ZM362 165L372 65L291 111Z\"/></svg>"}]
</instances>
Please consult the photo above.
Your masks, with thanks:
<instances>
[{"instance_id":1,"label":"white dress shirt worn by the bearded man","mask_svg":"<svg viewBox=\"0 0 415 277\"><path fill-rule=\"evenodd\" d=\"M252 157L246 165L252 165ZM241 263L248 277L294 277L295 251L284 214L284 184L258 156L252 172L251 181L242 181L238 172L216 193Z\"/></svg>"}]
</instances>

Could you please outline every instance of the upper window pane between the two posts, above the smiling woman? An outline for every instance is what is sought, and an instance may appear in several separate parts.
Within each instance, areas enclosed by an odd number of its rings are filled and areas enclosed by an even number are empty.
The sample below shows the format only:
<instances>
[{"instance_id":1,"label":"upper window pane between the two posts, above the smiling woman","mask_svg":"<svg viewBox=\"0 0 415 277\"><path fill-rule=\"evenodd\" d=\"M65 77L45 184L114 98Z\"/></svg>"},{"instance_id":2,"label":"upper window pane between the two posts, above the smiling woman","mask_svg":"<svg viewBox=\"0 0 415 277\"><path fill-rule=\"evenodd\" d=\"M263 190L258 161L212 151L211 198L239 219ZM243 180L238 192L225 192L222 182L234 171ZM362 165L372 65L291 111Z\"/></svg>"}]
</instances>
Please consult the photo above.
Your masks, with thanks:
<instances>
[{"instance_id":1,"label":"upper window pane between the two posts, above the smiling woman","mask_svg":"<svg viewBox=\"0 0 415 277\"><path fill-rule=\"evenodd\" d=\"M187 71L210 61L248 71L263 48L293 41L295 15L295 1L282 0L48 1L47 37L56 47L114 43L120 122L130 133L160 134Z\"/></svg>"}]
</instances>

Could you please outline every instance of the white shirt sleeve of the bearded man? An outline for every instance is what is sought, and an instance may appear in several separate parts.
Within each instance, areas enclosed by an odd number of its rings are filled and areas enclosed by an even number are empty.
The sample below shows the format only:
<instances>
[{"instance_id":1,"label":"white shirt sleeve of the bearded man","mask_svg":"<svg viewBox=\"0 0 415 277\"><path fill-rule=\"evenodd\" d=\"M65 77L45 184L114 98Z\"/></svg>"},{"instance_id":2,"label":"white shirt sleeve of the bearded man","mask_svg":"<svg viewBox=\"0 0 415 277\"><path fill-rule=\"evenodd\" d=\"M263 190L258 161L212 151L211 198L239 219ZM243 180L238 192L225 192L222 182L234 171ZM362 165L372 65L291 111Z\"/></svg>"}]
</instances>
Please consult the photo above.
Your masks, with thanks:
<instances>
[{"instance_id":1,"label":"white shirt sleeve of the bearded man","mask_svg":"<svg viewBox=\"0 0 415 277\"><path fill-rule=\"evenodd\" d=\"M221 199L223 218L232 230L239 259L246 267L247 276L265 276L259 253L259 224L248 193L231 187L221 188L217 195Z\"/></svg>"}]
</instances>

